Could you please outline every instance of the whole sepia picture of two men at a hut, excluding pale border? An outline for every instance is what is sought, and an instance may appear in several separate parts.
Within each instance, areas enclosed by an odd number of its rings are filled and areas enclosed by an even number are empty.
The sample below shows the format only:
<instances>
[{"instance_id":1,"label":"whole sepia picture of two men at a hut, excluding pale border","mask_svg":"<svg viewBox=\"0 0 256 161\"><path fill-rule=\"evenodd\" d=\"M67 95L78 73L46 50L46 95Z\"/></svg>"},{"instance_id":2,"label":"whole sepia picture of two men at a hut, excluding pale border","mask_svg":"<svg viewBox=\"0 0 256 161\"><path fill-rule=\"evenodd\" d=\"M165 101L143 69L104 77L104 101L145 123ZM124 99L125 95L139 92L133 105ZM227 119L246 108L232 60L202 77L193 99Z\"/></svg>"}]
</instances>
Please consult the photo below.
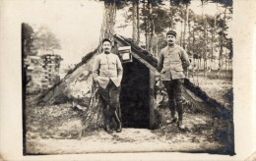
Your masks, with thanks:
<instances>
[{"instance_id":1,"label":"whole sepia picture of two men at a hut, excluding pale border","mask_svg":"<svg viewBox=\"0 0 256 161\"><path fill-rule=\"evenodd\" d=\"M24 155L235 154L232 0L33 3Z\"/></svg>"}]
</instances>

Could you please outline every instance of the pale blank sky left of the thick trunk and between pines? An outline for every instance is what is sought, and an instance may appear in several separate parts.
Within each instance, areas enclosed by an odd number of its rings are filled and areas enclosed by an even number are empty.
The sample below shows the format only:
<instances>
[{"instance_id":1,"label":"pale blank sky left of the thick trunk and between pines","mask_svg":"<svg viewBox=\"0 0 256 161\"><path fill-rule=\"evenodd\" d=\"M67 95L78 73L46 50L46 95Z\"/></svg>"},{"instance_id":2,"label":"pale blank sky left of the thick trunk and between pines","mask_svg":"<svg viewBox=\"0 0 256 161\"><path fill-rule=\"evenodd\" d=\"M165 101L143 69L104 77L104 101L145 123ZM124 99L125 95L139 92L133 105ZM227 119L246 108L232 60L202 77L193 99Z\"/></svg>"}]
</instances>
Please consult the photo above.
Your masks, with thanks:
<instances>
[{"instance_id":1,"label":"pale blank sky left of the thick trunk and between pines","mask_svg":"<svg viewBox=\"0 0 256 161\"><path fill-rule=\"evenodd\" d=\"M28 5L32 6L28 10ZM190 8L201 14L200 0L192 1ZM103 3L95 0L25 0L20 5L24 23L35 28L48 27L60 40L62 49L56 51L64 59L62 65L78 64L82 57L96 49L103 18ZM205 6L204 12L214 15L216 4ZM125 10L118 10L116 26L124 24ZM117 33L132 36L131 23L116 28Z\"/></svg>"}]
</instances>

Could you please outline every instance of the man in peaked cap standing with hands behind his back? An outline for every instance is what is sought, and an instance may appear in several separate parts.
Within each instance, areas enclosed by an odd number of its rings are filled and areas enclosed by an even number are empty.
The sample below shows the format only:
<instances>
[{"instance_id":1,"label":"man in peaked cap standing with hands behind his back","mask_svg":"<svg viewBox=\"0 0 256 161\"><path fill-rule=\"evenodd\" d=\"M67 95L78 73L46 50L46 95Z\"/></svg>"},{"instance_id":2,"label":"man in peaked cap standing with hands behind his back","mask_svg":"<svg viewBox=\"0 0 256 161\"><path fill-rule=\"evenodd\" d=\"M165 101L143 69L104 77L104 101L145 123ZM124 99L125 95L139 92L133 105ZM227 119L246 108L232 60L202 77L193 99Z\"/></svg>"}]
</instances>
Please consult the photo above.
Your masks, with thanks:
<instances>
[{"instance_id":1,"label":"man in peaked cap standing with hands behind his back","mask_svg":"<svg viewBox=\"0 0 256 161\"><path fill-rule=\"evenodd\" d=\"M175 112L178 113L177 126L184 130L182 124L183 104L182 104L182 83L185 75L183 71L190 65L188 55L185 50L175 44L176 32L169 30L166 33L167 46L160 50L158 61L158 71L164 87L167 90L169 109L171 115L171 123L175 123L177 118Z\"/></svg>"}]
</instances>

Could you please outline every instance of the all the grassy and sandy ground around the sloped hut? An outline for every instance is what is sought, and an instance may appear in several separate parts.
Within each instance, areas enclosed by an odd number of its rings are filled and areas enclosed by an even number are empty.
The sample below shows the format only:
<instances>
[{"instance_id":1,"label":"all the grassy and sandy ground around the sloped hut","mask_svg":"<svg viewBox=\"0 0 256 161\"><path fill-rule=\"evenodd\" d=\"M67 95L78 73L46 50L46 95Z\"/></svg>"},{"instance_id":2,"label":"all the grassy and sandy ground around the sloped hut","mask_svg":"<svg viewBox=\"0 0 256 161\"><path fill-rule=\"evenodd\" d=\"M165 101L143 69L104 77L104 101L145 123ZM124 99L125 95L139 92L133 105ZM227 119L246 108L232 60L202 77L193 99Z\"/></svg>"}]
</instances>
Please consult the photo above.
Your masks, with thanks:
<instances>
[{"instance_id":1,"label":"all the grassy and sandy ground around the sloped hut","mask_svg":"<svg viewBox=\"0 0 256 161\"><path fill-rule=\"evenodd\" d=\"M219 86L220 82L212 81ZM208 90L213 95L226 88ZM230 83L225 83L229 85ZM213 93L212 93L213 92ZM218 94L214 95L218 95ZM220 100L226 101L224 94ZM26 109L26 149L28 154L63 154L88 152L143 152L178 151L230 153L230 120L215 118L211 114L185 107L184 124L186 131L180 131L170 124L169 110L158 107L160 128L157 130L123 128L122 133L107 134L103 129L87 131L83 128L86 120L83 111L74 108L72 103L34 106Z\"/></svg>"}]
</instances>

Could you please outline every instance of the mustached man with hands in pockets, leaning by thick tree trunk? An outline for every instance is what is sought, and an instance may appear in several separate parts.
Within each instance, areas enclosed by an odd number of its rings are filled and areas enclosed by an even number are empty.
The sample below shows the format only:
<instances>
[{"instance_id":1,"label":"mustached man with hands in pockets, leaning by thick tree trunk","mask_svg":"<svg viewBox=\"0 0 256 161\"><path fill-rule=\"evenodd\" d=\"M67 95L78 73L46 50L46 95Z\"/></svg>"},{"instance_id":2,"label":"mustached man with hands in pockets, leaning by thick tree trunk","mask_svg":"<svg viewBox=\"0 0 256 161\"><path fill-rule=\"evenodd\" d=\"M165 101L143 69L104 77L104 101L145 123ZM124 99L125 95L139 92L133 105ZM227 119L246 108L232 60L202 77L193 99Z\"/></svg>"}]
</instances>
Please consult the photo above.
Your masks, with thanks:
<instances>
[{"instance_id":1,"label":"mustached man with hands in pockets, leaning by thick tree trunk","mask_svg":"<svg viewBox=\"0 0 256 161\"><path fill-rule=\"evenodd\" d=\"M110 52L111 41L107 38L102 40L103 52L96 55L93 66L93 76L99 85L99 93L103 99L105 106L105 130L107 133L113 133L109 125L112 118L117 123L117 133L122 132L122 125L117 114L117 109L120 108L119 95L120 83L123 75L122 64L119 57Z\"/></svg>"}]
</instances>

